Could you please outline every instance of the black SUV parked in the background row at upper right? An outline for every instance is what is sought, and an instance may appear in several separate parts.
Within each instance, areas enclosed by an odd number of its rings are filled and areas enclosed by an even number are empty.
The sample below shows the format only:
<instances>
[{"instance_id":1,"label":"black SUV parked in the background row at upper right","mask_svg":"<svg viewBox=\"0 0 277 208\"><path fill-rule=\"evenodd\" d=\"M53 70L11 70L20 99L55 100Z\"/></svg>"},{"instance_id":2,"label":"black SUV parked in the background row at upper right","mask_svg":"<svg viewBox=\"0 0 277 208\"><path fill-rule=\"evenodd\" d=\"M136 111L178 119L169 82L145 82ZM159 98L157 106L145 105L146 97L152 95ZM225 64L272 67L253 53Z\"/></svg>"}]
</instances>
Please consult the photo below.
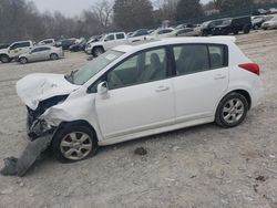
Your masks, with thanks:
<instances>
[{"instance_id":1,"label":"black SUV parked in the background row at upper right","mask_svg":"<svg viewBox=\"0 0 277 208\"><path fill-rule=\"evenodd\" d=\"M252 19L249 15L232 18L224 20L222 24L215 25L212 30L213 35L228 35L230 33L238 34L249 33L252 29Z\"/></svg>"}]
</instances>

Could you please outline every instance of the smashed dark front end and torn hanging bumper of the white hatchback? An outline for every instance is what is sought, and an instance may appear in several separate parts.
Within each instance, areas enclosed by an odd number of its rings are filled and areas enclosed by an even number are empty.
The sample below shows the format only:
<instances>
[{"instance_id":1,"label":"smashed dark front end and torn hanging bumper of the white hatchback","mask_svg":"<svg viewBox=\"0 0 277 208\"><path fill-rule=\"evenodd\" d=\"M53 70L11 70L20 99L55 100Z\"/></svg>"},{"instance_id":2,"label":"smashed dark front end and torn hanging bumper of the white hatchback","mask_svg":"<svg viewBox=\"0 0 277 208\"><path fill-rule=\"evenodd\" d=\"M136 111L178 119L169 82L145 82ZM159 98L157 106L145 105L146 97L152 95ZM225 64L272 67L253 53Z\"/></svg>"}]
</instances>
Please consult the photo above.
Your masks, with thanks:
<instances>
[{"instance_id":1,"label":"smashed dark front end and torn hanging bumper of the white hatchback","mask_svg":"<svg viewBox=\"0 0 277 208\"><path fill-rule=\"evenodd\" d=\"M0 170L2 175L24 176L41 153L51 145L57 126L48 124L48 122L42 118L42 115L47 110L65 101L68 96L69 95L59 95L42 101L34 111L27 107L27 129L30 142L19 158L8 157L4 159L4 167Z\"/></svg>"}]
</instances>

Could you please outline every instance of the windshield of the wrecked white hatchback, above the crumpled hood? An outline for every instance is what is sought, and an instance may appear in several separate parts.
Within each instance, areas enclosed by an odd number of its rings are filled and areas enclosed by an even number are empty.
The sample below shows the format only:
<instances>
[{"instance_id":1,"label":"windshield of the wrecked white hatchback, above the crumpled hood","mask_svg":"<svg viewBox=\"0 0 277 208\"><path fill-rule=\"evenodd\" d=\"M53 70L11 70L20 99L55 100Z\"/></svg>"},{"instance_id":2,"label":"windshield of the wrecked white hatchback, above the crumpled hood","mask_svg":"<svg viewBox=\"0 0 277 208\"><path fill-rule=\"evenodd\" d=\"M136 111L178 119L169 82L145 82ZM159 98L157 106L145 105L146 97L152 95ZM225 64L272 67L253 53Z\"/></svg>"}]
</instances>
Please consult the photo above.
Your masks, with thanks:
<instances>
[{"instance_id":1,"label":"windshield of the wrecked white hatchback, above the crumpled hood","mask_svg":"<svg viewBox=\"0 0 277 208\"><path fill-rule=\"evenodd\" d=\"M102 55L93 59L89 64L84 65L81 70L71 72L70 75L65 75L65 79L72 84L83 85L91 77L102 71L110 63L123 55L120 51L107 51Z\"/></svg>"}]
</instances>

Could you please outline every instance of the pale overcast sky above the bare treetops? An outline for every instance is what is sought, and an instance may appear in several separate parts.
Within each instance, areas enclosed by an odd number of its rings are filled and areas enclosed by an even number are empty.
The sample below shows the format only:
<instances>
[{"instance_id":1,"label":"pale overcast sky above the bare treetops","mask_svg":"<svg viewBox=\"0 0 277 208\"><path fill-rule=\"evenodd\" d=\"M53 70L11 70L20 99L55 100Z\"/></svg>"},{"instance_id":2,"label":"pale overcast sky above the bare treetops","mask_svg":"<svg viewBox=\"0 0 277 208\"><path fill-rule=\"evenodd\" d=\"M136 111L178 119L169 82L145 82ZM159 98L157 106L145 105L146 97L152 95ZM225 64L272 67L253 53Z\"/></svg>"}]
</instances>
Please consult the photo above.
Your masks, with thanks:
<instances>
[{"instance_id":1,"label":"pale overcast sky above the bare treetops","mask_svg":"<svg viewBox=\"0 0 277 208\"><path fill-rule=\"evenodd\" d=\"M74 17L80 14L84 9L89 9L99 0L29 0L33 1L38 9L44 11L60 11L66 17ZM208 0L202 0L206 3Z\"/></svg>"}]
</instances>

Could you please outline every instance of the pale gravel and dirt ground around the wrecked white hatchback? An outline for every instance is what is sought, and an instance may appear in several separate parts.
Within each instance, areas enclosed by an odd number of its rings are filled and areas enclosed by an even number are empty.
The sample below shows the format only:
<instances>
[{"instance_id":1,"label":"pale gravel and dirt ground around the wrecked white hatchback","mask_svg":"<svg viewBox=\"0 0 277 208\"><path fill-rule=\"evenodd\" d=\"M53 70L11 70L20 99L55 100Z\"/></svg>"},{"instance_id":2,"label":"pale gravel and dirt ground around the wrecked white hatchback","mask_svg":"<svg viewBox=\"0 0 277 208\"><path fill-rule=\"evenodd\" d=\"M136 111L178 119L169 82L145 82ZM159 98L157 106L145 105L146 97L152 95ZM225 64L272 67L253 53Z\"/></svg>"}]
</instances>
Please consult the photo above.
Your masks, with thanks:
<instances>
[{"instance_id":1,"label":"pale gravel and dirt ground around the wrecked white hatchback","mask_svg":"<svg viewBox=\"0 0 277 208\"><path fill-rule=\"evenodd\" d=\"M24 178L0 176L0 207L277 207L277 31L237 39L260 64L266 87L264 104L243 125L208 124L103 147L76 164L45 156ZM85 58L0 64L0 160L28 142L16 82L33 72L69 72ZM135 155L136 147L147 155Z\"/></svg>"}]
</instances>

